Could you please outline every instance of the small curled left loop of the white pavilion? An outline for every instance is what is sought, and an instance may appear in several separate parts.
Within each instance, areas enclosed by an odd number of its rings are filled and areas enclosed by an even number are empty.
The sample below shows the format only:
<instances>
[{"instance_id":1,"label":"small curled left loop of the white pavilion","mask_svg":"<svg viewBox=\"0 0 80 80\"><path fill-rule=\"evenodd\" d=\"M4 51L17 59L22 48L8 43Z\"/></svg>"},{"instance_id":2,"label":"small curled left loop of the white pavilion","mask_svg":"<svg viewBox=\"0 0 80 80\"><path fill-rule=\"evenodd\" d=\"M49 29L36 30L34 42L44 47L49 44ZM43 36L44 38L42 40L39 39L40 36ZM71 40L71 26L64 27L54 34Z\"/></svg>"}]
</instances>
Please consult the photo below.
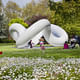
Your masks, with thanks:
<instances>
[{"instance_id":1,"label":"small curled left loop of the white pavilion","mask_svg":"<svg viewBox=\"0 0 80 80\"><path fill-rule=\"evenodd\" d=\"M26 28L18 23L14 23L9 27L9 33L15 41L22 36L22 33L24 33L25 30Z\"/></svg>"}]
</instances>

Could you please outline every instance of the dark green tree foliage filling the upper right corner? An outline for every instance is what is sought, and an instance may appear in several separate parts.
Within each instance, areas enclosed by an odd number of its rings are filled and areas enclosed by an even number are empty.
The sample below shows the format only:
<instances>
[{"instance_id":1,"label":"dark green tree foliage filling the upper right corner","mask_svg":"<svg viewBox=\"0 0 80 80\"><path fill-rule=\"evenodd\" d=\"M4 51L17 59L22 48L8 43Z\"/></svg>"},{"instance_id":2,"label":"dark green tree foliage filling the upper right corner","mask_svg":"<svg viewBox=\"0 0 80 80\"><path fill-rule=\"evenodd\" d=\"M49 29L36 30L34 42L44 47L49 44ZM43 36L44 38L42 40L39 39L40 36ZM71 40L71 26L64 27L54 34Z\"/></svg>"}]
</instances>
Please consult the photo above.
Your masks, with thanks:
<instances>
[{"instance_id":1,"label":"dark green tree foliage filling the upper right corner","mask_svg":"<svg viewBox=\"0 0 80 80\"><path fill-rule=\"evenodd\" d=\"M80 0L49 2L50 9L55 11L54 24L62 26L69 35L80 35Z\"/></svg>"}]
</instances>

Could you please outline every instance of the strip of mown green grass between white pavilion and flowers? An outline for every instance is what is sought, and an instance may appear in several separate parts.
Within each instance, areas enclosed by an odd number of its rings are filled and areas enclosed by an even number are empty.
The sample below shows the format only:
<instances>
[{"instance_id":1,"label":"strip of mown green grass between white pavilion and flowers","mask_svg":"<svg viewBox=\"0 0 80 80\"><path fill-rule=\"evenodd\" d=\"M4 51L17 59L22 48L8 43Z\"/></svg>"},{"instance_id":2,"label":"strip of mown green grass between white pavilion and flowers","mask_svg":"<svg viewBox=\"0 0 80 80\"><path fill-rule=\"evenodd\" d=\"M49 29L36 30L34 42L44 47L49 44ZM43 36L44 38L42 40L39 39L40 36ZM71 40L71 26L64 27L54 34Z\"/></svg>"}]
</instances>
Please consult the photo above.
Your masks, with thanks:
<instances>
[{"instance_id":1,"label":"strip of mown green grass between white pavilion and flowers","mask_svg":"<svg viewBox=\"0 0 80 80\"><path fill-rule=\"evenodd\" d=\"M80 48L63 49L60 47L52 47L45 49L43 53L40 49L17 49L15 44L0 43L0 51L3 52L0 57L27 57L27 58L80 58Z\"/></svg>"}]
</instances>

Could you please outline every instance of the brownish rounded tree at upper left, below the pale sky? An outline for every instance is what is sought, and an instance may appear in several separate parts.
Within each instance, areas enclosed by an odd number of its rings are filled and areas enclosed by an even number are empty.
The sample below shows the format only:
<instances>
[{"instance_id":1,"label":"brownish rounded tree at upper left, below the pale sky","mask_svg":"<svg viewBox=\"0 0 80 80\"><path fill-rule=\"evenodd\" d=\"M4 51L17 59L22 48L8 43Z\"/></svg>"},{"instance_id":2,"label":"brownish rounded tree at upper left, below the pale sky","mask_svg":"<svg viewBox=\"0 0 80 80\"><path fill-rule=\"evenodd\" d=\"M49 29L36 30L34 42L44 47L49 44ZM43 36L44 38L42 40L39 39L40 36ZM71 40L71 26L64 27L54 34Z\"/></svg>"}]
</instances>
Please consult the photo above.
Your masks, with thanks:
<instances>
[{"instance_id":1,"label":"brownish rounded tree at upper left, below the pale sky","mask_svg":"<svg viewBox=\"0 0 80 80\"><path fill-rule=\"evenodd\" d=\"M5 7L5 14L9 20L20 17L22 15L21 8L15 2L8 1Z\"/></svg>"}]
</instances>

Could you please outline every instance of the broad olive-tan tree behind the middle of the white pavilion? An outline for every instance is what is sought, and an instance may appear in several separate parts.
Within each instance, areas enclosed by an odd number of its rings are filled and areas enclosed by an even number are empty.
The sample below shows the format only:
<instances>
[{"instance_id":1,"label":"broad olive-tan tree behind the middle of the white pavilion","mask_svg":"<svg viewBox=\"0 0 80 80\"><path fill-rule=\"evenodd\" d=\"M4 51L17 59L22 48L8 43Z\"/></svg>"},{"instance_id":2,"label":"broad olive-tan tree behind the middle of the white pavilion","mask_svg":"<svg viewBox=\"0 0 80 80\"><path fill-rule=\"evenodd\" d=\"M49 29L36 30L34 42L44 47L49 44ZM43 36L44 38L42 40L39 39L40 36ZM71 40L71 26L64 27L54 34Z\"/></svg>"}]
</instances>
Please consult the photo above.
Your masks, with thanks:
<instances>
[{"instance_id":1,"label":"broad olive-tan tree behind the middle of the white pavilion","mask_svg":"<svg viewBox=\"0 0 80 80\"><path fill-rule=\"evenodd\" d=\"M48 0L41 0L39 3L35 3L33 0L23 8L23 18L25 20L39 15L47 16L52 23L54 22L54 11L51 11L48 7Z\"/></svg>"}]
</instances>

